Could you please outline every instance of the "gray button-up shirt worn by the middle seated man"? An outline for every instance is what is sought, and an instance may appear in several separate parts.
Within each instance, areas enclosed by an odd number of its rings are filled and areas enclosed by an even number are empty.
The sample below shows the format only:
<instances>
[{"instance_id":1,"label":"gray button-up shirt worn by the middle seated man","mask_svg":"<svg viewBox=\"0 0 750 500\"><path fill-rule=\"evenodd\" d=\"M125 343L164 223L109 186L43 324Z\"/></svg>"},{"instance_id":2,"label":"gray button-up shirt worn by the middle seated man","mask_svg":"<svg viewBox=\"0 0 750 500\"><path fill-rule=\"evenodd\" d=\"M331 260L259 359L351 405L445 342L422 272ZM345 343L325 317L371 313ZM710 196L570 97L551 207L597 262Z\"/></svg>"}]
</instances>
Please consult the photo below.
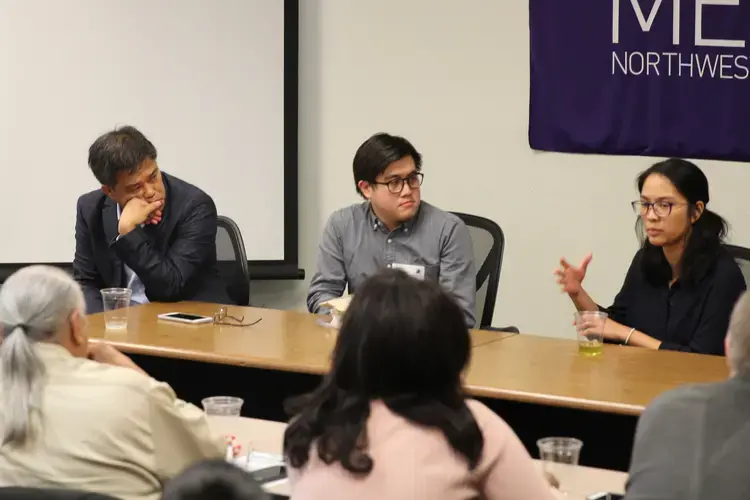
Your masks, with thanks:
<instances>
[{"instance_id":1,"label":"gray button-up shirt worn by the middle seated man","mask_svg":"<svg viewBox=\"0 0 750 500\"><path fill-rule=\"evenodd\" d=\"M320 240L307 308L319 312L322 302L341 297L347 285L354 293L369 276L393 264L423 266L425 279L451 293L467 325L474 326L477 273L469 230L457 216L426 202L393 231L377 219L369 202L334 212Z\"/></svg>"}]
</instances>

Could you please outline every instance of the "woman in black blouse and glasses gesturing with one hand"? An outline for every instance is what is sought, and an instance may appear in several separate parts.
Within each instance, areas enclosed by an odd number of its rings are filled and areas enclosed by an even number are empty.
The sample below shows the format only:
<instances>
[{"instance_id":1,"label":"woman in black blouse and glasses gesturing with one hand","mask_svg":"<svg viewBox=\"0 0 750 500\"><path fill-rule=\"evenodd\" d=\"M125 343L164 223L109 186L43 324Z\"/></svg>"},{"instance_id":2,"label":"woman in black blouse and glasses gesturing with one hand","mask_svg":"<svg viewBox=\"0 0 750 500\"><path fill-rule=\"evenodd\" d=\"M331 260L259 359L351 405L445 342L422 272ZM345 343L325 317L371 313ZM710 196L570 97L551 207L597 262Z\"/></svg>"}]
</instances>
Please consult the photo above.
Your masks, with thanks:
<instances>
[{"instance_id":1,"label":"woman in black blouse and glasses gesturing with one hand","mask_svg":"<svg viewBox=\"0 0 750 500\"><path fill-rule=\"evenodd\" d=\"M723 354L734 303L745 290L739 267L722 243L727 225L708 210L708 180L693 163L665 160L638 176L645 233L604 327L609 341L649 349ZM579 311L599 309L581 282L591 261L579 267L560 260L557 283Z\"/></svg>"}]
</instances>

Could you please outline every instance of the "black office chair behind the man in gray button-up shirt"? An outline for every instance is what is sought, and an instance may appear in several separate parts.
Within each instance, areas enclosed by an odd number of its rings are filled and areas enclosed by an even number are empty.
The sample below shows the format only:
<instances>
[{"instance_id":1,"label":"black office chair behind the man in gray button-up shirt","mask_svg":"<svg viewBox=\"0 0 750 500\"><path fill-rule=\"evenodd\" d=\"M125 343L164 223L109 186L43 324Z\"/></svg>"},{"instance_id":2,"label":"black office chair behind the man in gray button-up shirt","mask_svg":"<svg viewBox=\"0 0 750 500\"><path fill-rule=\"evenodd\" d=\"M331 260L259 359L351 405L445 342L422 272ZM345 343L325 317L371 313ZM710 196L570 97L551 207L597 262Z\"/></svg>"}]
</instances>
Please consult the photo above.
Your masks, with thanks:
<instances>
[{"instance_id":1,"label":"black office chair behind the man in gray button-up shirt","mask_svg":"<svg viewBox=\"0 0 750 500\"><path fill-rule=\"evenodd\" d=\"M505 235L494 221L478 215L453 212L469 227L474 246L474 261L477 263L477 328L518 333L518 328L492 326L495 313L497 288L500 284L500 269L503 265ZM481 262L481 264L479 264Z\"/></svg>"}]
</instances>

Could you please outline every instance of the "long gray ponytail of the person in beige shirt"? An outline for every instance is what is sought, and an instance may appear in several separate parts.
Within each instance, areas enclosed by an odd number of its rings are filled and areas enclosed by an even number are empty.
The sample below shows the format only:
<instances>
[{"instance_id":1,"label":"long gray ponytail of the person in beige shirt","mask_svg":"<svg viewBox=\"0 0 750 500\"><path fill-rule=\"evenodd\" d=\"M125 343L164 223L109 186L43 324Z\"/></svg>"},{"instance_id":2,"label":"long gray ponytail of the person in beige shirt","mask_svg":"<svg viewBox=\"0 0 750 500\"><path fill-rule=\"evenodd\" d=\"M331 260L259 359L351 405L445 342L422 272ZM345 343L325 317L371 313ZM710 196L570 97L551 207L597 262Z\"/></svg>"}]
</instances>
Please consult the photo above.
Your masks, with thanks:
<instances>
[{"instance_id":1,"label":"long gray ponytail of the person in beige shirt","mask_svg":"<svg viewBox=\"0 0 750 500\"><path fill-rule=\"evenodd\" d=\"M23 446L32 437L39 411L44 365L34 352L23 325L14 326L0 344L0 408L2 446Z\"/></svg>"}]
</instances>

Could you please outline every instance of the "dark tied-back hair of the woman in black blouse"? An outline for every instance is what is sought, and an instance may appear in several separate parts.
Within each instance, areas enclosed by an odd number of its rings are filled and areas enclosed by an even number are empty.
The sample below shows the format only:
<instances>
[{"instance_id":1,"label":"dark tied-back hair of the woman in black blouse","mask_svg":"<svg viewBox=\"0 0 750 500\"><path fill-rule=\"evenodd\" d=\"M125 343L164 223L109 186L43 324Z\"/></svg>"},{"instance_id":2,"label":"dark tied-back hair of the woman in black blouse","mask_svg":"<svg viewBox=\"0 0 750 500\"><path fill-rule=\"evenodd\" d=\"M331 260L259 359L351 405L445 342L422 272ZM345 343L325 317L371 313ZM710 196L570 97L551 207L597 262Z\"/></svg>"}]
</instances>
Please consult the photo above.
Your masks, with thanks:
<instances>
[{"instance_id":1,"label":"dark tied-back hair of the woman in black blouse","mask_svg":"<svg viewBox=\"0 0 750 500\"><path fill-rule=\"evenodd\" d=\"M679 158L670 158L655 163L638 175L639 192L651 174L660 174L669 179L677 191L687 199L690 205L688 207L690 217L697 213L696 204L699 201L708 205L708 179L695 163ZM643 238L643 221L640 217L636 222L636 231L639 237ZM726 234L726 221L717 213L704 208L687 235L685 249L680 259L679 275L683 284L694 285L708 273L722 251L722 243ZM672 268L663 250L652 245L648 238L644 238L643 252L642 269L646 279L657 286L669 283L673 278Z\"/></svg>"}]
</instances>

